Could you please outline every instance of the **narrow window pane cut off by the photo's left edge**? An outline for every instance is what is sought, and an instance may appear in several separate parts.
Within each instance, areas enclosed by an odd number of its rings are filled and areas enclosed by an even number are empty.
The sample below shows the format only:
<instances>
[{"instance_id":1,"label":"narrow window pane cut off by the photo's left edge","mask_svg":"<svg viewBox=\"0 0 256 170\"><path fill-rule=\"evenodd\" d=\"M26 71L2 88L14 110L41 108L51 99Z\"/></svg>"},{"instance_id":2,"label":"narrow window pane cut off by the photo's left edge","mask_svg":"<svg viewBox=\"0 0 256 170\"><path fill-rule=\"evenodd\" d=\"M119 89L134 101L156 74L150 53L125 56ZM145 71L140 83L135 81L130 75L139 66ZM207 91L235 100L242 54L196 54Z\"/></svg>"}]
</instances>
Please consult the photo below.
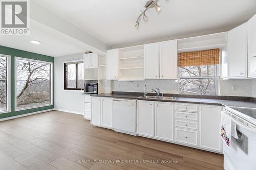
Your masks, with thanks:
<instances>
[{"instance_id":1,"label":"narrow window pane cut off by the photo's left edge","mask_svg":"<svg viewBox=\"0 0 256 170\"><path fill-rule=\"evenodd\" d=\"M7 110L7 57L0 57L0 111Z\"/></svg>"}]
</instances>

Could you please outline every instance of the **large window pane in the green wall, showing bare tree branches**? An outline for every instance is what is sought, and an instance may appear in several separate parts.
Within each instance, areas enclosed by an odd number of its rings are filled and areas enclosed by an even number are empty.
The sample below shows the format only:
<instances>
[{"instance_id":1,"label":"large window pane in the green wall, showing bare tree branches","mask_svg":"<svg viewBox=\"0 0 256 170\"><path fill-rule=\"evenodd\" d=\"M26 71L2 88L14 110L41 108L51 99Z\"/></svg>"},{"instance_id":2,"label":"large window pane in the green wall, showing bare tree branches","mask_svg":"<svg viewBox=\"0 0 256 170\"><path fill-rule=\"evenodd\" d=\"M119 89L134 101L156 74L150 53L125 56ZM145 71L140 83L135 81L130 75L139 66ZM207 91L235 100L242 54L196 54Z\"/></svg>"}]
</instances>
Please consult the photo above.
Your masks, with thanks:
<instances>
[{"instance_id":1,"label":"large window pane in the green wall, showing bare tree branches","mask_svg":"<svg viewBox=\"0 0 256 170\"><path fill-rule=\"evenodd\" d=\"M16 107L26 108L51 103L51 65L16 60Z\"/></svg>"}]
</instances>

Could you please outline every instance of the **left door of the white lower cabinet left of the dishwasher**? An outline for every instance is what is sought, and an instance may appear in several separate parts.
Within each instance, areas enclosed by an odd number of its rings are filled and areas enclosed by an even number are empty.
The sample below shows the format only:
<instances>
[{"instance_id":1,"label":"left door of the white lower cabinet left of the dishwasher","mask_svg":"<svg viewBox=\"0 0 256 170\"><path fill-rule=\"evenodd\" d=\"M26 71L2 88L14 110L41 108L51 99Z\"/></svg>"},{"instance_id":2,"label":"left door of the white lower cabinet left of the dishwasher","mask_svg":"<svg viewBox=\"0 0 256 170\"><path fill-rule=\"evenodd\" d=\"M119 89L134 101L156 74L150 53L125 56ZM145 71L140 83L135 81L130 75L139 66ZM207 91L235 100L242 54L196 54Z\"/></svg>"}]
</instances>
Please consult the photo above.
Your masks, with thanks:
<instances>
[{"instance_id":1,"label":"left door of the white lower cabinet left of the dishwasher","mask_svg":"<svg viewBox=\"0 0 256 170\"><path fill-rule=\"evenodd\" d=\"M100 106L101 106L101 98L92 97L91 124L95 126L100 126Z\"/></svg>"}]
</instances>

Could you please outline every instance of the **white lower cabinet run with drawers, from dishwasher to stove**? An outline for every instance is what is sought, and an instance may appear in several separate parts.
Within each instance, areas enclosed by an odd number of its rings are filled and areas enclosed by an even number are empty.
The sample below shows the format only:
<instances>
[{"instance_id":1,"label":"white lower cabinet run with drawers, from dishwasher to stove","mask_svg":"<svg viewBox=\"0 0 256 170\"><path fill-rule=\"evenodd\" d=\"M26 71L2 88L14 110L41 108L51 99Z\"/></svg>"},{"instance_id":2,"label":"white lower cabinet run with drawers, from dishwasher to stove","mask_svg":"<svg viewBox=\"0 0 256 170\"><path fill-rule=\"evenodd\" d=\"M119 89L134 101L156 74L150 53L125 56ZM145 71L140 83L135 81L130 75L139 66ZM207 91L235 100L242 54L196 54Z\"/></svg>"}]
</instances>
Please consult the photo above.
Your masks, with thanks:
<instances>
[{"instance_id":1,"label":"white lower cabinet run with drawers, from dishwasher to stove","mask_svg":"<svg viewBox=\"0 0 256 170\"><path fill-rule=\"evenodd\" d=\"M222 153L221 110L213 105L138 100L137 135Z\"/></svg>"}]
</instances>

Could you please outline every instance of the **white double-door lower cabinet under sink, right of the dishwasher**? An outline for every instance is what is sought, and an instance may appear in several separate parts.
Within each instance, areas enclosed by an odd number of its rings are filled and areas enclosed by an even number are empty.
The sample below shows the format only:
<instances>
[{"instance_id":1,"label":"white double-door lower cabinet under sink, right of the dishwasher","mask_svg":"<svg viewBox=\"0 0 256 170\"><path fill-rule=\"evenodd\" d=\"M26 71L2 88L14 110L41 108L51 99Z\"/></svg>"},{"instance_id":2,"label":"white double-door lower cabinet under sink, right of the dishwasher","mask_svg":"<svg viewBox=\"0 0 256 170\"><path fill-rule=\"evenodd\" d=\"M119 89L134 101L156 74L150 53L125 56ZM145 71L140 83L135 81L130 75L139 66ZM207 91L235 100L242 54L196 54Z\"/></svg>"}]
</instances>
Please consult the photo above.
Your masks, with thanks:
<instances>
[{"instance_id":1,"label":"white double-door lower cabinet under sink, right of the dishwasher","mask_svg":"<svg viewBox=\"0 0 256 170\"><path fill-rule=\"evenodd\" d=\"M174 104L137 101L137 134L172 141L174 139Z\"/></svg>"}]
</instances>

